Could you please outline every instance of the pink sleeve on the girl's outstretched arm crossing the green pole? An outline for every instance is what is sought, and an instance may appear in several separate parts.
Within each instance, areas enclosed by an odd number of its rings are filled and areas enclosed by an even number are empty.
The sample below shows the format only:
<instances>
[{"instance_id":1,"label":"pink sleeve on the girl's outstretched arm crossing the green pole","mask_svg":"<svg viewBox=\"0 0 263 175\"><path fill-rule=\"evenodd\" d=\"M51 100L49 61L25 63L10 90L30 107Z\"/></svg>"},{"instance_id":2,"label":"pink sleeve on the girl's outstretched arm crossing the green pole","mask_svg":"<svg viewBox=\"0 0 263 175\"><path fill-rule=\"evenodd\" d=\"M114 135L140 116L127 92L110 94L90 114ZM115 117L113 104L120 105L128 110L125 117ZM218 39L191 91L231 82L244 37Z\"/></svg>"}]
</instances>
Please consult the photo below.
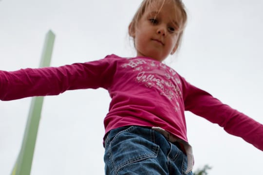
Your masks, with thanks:
<instances>
[{"instance_id":1,"label":"pink sleeve on the girl's outstretched arm crossing the green pole","mask_svg":"<svg viewBox=\"0 0 263 175\"><path fill-rule=\"evenodd\" d=\"M0 70L0 100L8 101L31 96L57 95L66 90L108 88L115 64L104 58L61 67Z\"/></svg>"}]
</instances>

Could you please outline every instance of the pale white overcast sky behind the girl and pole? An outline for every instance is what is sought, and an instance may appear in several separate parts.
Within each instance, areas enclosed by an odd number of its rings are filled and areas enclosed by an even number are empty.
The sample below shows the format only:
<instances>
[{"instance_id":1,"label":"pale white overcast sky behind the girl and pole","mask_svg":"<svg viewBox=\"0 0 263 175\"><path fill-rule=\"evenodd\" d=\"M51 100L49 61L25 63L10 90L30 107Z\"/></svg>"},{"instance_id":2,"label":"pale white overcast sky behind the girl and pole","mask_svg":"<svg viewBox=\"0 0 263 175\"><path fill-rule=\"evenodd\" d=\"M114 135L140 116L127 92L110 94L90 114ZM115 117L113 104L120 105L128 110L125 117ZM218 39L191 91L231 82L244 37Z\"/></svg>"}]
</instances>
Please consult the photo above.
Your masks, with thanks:
<instances>
[{"instance_id":1,"label":"pale white overcast sky behind the girl and pole","mask_svg":"<svg viewBox=\"0 0 263 175\"><path fill-rule=\"evenodd\" d=\"M141 0L1 0L0 70L37 68L45 35L56 34L52 66L107 54L134 56L127 28ZM183 45L166 63L191 84L263 123L263 1L184 0ZM19 153L31 99L0 101L0 175ZM45 97L31 175L103 175L104 89ZM157 105L157 104L156 104ZM210 175L261 175L263 152L217 124L186 113L195 168Z\"/></svg>"}]
</instances>

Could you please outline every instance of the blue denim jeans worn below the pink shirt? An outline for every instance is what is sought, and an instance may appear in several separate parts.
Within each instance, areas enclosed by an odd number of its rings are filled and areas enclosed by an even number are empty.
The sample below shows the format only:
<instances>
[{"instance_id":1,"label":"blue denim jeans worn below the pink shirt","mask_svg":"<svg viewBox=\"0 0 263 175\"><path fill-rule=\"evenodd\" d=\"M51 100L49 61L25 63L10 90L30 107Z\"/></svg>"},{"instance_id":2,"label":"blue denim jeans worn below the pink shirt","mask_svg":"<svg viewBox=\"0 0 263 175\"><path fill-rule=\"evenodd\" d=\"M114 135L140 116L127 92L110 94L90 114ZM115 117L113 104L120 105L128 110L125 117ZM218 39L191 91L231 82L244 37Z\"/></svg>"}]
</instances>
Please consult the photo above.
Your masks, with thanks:
<instances>
[{"instance_id":1,"label":"blue denim jeans worn below the pink shirt","mask_svg":"<svg viewBox=\"0 0 263 175\"><path fill-rule=\"evenodd\" d=\"M192 175L186 155L150 127L113 129L104 143L106 175Z\"/></svg>"}]
</instances>

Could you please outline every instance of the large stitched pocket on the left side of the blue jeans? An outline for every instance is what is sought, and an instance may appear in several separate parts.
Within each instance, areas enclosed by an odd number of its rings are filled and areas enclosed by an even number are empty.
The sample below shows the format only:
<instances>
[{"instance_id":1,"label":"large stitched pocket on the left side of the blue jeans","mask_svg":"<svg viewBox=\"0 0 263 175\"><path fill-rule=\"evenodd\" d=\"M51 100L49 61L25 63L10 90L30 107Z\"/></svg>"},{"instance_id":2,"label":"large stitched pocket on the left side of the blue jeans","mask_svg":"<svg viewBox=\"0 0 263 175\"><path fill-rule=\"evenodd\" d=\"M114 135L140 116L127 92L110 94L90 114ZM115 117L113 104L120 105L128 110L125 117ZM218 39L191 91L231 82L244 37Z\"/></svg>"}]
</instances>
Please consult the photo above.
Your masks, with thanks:
<instances>
[{"instance_id":1,"label":"large stitched pocket on the left side of the blue jeans","mask_svg":"<svg viewBox=\"0 0 263 175\"><path fill-rule=\"evenodd\" d=\"M153 130L138 129L136 126L119 132L108 141L108 145L105 147L105 166L108 166L114 173L131 163L157 157L160 149L153 142Z\"/></svg>"}]
</instances>

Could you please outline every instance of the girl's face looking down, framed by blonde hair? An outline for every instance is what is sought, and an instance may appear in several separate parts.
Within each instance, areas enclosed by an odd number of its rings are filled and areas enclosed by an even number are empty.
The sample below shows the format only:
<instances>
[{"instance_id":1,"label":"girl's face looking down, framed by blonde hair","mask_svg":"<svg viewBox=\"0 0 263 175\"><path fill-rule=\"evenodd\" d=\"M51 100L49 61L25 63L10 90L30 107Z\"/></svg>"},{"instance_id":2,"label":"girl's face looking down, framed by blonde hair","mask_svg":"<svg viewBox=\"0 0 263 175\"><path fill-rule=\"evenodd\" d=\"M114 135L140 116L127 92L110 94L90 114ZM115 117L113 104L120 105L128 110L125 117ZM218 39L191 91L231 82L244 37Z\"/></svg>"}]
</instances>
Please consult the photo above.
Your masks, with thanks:
<instances>
[{"instance_id":1,"label":"girl's face looking down, framed by blonde hair","mask_svg":"<svg viewBox=\"0 0 263 175\"><path fill-rule=\"evenodd\" d=\"M137 56L151 57L162 62L177 49L180 21L174 4L154 0L131 32ZM163 5L163 6L162 6Z\"/></svg>"}]
</instances>

